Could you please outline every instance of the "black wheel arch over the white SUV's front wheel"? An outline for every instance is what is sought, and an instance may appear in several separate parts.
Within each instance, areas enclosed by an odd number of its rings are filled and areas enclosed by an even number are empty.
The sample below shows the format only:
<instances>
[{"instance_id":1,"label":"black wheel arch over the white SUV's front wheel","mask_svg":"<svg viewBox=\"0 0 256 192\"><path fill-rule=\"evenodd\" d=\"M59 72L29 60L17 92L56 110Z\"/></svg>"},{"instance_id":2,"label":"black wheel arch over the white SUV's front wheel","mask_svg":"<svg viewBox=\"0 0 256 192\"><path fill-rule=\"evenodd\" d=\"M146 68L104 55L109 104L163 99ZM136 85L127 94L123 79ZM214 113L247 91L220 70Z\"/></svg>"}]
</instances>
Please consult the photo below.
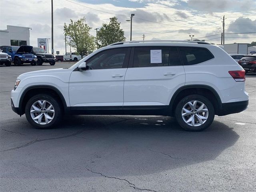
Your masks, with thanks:
<instances>
[{"instance_id":1,"label":"black wheel arch over the white SUV's front wheel","mask_svg":"<svg viewBox=\"0 0 256 192\"><path fill-rule=\"evenodd\" d=\"M67 107L66 101L62 93L55 88L54 86L50 85L36 85L36 86L30 86L24 90L20 97L19 107L18 107L18 114L23 115L25 113L25 106L28 102L29 98L36 94L52 94L54 96L57 96L57 99L61 102L62 107L64 109L65 113L68 113L69 108Z\"/></svg>"}]
</instances>

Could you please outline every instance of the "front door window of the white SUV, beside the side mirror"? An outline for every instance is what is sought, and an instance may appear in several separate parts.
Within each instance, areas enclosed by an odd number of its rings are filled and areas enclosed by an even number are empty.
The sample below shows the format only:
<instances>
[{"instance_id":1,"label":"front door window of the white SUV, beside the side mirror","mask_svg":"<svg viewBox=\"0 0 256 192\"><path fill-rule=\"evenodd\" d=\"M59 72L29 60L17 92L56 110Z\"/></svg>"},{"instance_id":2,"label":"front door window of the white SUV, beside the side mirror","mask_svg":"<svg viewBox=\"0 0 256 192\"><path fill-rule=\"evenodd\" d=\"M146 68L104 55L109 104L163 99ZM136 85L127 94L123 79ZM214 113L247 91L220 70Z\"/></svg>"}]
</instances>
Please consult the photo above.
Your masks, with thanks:
<instances>
[{"instance_id":1,"label":"front door window of the white SUV, beside the side mirror","mask_svg":"<svg viewBox=\"0 0 256 192\"><path fill-rule=\"evenodd\" d=\"M91 69L115 69L125 66L125 58L130 48L118 48L102 51L86 61Z\"/></svg>"}]
</instances>

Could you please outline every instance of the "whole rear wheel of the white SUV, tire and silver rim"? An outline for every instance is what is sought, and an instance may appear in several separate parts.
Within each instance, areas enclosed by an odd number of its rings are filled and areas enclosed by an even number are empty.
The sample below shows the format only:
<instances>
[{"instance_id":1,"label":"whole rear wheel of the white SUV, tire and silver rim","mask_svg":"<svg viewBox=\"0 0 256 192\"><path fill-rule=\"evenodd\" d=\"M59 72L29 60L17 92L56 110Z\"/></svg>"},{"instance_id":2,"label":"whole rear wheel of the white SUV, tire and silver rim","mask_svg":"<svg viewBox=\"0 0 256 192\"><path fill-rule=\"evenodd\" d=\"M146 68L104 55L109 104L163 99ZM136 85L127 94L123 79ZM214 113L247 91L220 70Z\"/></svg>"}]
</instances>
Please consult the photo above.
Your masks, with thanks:
<instances>
[{"instance_id":1,"label":"whole rear wheel of the white SUV, tire and silver rim","mask_svg":"<svg viewBox=\"0 0 256 192\"><path fill-rule=\"evenodd\" d=\"M193 108L193 105L196 107ZM198 113L198 109L202 106L201 112ZM214 120L214 115L212 103L204 96L196 94L186 96L180 100L175 110L178 124L187 131L202 131L208 128Z\"/></svg>"}]
</instances>

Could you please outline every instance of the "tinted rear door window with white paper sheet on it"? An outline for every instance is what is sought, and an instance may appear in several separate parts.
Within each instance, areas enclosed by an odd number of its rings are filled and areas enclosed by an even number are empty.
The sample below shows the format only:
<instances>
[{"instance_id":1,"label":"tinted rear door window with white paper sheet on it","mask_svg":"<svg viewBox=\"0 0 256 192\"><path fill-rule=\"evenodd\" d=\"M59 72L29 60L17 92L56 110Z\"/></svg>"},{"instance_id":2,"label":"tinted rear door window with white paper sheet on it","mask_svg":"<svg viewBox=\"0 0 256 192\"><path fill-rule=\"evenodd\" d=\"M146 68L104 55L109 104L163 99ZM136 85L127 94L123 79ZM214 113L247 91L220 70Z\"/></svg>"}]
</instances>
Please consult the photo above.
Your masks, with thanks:
<instances>
[{"instance_id":1,"label":"tinted rear door window with white paper sheet on it","mask_svg":"<svg viewBox=\"0 0 256 192\"><path fill-rule=\"evenodd\" d=\"M155 52L153 51L155 50ZM158 57L152 60L153 54ZM157 56L159 54L159 56ZM136 47L133 67L158 67L182 65L176 47Z\"/></svg>"}]
</instances>

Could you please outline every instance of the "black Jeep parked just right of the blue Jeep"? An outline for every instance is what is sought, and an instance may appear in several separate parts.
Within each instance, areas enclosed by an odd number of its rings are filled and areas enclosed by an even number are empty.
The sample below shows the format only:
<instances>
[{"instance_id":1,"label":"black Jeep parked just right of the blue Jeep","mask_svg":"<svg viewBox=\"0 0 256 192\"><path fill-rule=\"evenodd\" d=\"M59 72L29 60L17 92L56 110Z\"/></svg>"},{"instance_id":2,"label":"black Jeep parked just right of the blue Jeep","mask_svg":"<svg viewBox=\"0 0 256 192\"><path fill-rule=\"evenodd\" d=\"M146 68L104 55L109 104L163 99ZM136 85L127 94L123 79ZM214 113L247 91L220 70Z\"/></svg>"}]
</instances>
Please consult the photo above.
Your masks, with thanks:
<instances>
[{"instance_id":1,"label":"black Jeep parked just right of the blue Jeep","mask_svg":"<svg viewBox=\"0 0 256 192\"><path fill-rule=\"evenodd\" d=\"M42 65L43 63L55 65L56 57L53 54L46 53L44 48L33 47L32 53L37 56L37 65Z\"/></svg>"}]
</instances>

